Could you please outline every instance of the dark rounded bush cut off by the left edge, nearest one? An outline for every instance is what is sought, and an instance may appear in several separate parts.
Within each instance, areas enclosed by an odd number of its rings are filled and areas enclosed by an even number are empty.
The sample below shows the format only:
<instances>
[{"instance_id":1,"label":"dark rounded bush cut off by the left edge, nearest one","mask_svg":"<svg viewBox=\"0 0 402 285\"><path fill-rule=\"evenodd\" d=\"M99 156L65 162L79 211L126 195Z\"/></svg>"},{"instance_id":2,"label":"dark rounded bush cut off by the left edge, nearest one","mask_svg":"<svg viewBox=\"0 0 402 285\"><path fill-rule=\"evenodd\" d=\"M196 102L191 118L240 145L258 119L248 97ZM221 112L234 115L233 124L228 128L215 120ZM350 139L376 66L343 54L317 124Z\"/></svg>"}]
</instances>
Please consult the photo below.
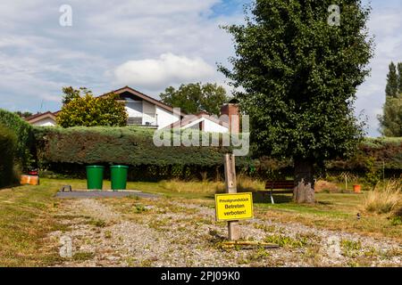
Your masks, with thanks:
<instances>
[{"instance_id":1,"label":"dark rounded bush cut off by the left edge, nearest one","mask_svg":"<svg viewBox=\"0 0 402 285\"><path fill-rule=\"evenodd\" d=\"M0 125L0 187L14 182L14 153L17 138L7 127Z\"/></svg>"}]
</instances>

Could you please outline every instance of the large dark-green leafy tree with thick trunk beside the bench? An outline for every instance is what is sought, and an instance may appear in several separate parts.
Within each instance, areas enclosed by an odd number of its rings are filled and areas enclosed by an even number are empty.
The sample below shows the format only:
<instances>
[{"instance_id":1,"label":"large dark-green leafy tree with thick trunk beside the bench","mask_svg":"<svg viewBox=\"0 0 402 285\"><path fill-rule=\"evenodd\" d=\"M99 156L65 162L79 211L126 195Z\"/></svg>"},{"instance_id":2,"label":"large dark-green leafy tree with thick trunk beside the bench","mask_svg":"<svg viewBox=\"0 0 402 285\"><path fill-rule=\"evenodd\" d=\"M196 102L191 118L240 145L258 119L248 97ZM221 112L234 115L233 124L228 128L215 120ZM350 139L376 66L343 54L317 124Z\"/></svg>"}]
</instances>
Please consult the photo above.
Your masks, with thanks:
<instances>
[{"instance_id":1,"label":"large dark-green leafy tree with thick trunk beside the bench","mask_svg":"<svg viewBox=\"0 0 402 285\"><path fill-rule=\"evenodd\" d=\"M236 56L220 68L244 89L238 98L254 152L293 159L297 202L314 202L314 165L348 156L364 135L353 103L373 57L371 8L336 1L337 25L333 3L256 0L244 25L226 27Z\"/></svg>"}]
</instances>

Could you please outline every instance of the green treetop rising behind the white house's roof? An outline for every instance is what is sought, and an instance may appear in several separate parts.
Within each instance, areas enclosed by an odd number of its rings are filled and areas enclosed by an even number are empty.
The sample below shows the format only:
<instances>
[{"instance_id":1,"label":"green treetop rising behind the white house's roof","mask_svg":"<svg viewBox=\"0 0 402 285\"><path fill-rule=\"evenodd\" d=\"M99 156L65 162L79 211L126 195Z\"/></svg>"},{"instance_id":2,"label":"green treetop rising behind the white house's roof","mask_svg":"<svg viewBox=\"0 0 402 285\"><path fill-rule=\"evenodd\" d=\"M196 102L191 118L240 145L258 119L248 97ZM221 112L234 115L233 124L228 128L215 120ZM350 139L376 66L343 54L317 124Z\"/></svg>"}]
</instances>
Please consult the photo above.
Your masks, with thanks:
<instances>
[{"instance_id":1,"label":"green treetop rising behind the white house's roof","mask_svg":"<svg viewBox=\"0 0 402 285\"><path fill-rule=\"evenodd\" d=\"M164 103L180 108L188 114L205 110L210 114L219 115L223 102L228 100L225 89L211 83L180 85L177 90L170 86L160 96Z\"/></svg>"}]
</instances>

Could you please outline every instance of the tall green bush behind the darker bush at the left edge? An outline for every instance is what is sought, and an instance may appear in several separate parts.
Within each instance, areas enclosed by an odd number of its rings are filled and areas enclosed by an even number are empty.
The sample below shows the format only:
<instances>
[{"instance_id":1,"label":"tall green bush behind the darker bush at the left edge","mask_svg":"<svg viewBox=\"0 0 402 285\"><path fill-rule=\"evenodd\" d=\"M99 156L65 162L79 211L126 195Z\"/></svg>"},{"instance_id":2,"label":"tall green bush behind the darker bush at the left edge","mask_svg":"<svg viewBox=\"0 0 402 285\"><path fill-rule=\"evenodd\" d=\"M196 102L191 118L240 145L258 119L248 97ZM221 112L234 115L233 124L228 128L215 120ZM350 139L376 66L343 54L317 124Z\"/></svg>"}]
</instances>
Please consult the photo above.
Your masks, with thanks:
<instances>
[{"instance_id":1,"label":"tall green bush behind the darker bush at the left edge","mask_svg":"<svg viewBox=\"0 0 402 285\"><path fill-rule=\"evenodd\" d=\"M15 159L21 163L21 167L29 167L32 163L33 129L17 114L0 109L0 124L8 127L17 136Z\"/></svg>"}]
</instances>

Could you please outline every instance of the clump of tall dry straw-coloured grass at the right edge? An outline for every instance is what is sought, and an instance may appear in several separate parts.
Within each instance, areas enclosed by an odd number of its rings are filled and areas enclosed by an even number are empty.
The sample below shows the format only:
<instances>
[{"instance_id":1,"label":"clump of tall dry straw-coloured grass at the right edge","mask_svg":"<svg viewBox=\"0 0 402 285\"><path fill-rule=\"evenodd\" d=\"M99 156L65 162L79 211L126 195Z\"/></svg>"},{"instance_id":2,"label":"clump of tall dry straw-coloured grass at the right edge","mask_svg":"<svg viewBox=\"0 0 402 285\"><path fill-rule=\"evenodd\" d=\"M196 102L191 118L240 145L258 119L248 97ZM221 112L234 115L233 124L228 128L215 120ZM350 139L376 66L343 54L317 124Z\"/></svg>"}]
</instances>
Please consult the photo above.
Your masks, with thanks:
<instances>
[{"instance_id":1,"label":"clump of tall dry straw-coloured grass at the right edge","mask_svg":"<svg viewBox=\"0 0 402 285\"><path fill-rule=\"evenodd\" d=\"M402 182L389 180L385 186L375 186L364 199L364 209L377 214L389 213L402 203Z\"/></svg>"}]
</instances>

